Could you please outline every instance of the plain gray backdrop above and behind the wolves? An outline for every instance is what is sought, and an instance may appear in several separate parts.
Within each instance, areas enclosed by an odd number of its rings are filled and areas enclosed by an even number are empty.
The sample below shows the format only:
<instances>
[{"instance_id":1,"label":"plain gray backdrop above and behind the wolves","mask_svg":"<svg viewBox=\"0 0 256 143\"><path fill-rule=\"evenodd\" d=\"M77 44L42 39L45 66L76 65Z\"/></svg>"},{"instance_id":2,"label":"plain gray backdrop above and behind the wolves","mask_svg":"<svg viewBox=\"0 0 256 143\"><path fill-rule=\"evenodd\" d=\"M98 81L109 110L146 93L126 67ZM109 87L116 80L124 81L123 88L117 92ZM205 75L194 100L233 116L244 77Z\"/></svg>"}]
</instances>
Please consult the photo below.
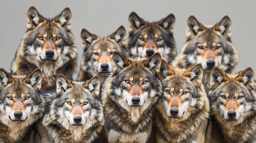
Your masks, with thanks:
<instances>
[{"instance_id":1,"label":"plain gray backdrop above and behind the wolves","mask_svg":"<svg viewBox=\"0 0 256 143\"><path fill-rule=\"evenodd\" d=\"M239 63L233 73L248 66L256 71L256 0L1 0L0 67L6 70L10 70L27 30L26 14L31 6L45 18L53 18L65 7L70 8L71 31L78 48L78 71L83 54L81 30L85 28L96 35L110 35L123 25L128 36L128 15L132 11L150 21L158 21L173 13L176 18L173 35L178 53L186 41L186 21L190 15L207 25L216 24L228 15L232 22L231 40L239 54Z\"/></svg>"}]
</instances>

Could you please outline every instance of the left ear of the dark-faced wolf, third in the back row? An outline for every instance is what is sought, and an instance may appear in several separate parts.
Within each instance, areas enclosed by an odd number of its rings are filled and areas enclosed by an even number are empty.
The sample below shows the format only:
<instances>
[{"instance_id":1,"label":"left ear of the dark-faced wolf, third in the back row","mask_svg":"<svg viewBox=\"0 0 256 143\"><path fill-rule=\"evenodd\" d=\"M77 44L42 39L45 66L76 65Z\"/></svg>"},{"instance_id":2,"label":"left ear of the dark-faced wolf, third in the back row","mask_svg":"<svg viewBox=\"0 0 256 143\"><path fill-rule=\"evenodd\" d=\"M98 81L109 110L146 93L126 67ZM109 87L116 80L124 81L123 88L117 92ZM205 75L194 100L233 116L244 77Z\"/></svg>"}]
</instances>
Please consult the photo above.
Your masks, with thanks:
<instances>
[{"instance_id":1,"label":"left ear of the dark-faced wolf, third in the back row","mask_svg":"<svg viewBox=\"0 0 256 143\"><path fill-rule=\"evenodd\" d=\"M140 18L137 13L131 12L128 17L128 31L131 33L135 33L141 26L146 24L146 22Z\"/></svg>"}]
</instances>

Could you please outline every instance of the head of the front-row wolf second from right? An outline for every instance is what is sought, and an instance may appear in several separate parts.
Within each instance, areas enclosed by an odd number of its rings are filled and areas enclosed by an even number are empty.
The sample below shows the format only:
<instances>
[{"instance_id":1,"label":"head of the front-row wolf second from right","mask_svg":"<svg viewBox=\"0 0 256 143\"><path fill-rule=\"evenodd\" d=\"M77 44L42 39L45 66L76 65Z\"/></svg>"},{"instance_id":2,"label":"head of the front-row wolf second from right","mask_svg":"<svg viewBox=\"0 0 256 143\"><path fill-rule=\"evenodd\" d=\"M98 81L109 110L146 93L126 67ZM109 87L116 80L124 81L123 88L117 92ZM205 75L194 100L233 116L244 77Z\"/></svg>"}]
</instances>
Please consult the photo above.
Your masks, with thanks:
<instances>
[{"instance_id":1,"label":"head of the front-row wolf second from right","mask_svg":"<svg viewBox=\"0 0 256 143\"><path fill-rule=\"evenodd\" d=\"M191 68L173 68L164 60L161 68L162 103L168 117L172 120L187 119L193 110L204 106L207 99L204 86L201 84L203 68L195 64ZM187 111L189 110L189 111Z\"/></svg>"}]
</instances>

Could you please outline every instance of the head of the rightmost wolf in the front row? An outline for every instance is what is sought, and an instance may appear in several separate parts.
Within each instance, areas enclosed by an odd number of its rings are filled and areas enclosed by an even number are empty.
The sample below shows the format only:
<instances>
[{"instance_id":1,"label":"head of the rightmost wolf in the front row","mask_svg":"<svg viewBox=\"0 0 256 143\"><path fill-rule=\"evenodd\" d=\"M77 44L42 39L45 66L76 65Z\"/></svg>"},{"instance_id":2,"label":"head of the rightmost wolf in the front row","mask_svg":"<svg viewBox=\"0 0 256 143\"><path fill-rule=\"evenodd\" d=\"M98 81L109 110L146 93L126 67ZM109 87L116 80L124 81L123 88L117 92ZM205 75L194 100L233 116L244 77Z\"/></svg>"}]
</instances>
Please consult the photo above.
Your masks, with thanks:
<instances>
[{"instance_id":1,"label":"head of the rightmost wolf in the front row","mask_svg":"<svg viewBox=\"0 0 256 143\"><path fill-rule=\"evenodd\" d=\"M250 67L234 75L213 68L209 91L212 114L231 123L243 121L256 109L254 83L254 71Z\"/></svg>"}]
</instances>

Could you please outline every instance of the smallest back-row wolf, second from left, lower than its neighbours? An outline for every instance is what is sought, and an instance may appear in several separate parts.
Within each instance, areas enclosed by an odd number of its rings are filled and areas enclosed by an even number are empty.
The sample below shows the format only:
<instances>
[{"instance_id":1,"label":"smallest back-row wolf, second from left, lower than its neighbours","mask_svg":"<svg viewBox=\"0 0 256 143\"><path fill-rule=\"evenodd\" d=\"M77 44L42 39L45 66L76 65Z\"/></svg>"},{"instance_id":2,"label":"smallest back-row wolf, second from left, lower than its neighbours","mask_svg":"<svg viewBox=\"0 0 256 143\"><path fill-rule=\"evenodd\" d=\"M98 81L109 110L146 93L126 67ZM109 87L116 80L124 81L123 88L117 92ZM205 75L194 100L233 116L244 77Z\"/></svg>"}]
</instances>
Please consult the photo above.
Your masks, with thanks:
<instances>
[{"instance_id":1,"label":"smallest back-row wolf, second from left, lower than its neighbours","mask_svg":"<svg viewBox=\"0 0 256 143\"><path fill-rule=\"evenodd\" d=\"M83 57L81 60L78 80L88 80L97 75L105 81L112 72L112 55L118 51L126 56L126 30L124 26L108 36L97 36L86 29L81 31Z\"/></svg>"}]
</instances>

